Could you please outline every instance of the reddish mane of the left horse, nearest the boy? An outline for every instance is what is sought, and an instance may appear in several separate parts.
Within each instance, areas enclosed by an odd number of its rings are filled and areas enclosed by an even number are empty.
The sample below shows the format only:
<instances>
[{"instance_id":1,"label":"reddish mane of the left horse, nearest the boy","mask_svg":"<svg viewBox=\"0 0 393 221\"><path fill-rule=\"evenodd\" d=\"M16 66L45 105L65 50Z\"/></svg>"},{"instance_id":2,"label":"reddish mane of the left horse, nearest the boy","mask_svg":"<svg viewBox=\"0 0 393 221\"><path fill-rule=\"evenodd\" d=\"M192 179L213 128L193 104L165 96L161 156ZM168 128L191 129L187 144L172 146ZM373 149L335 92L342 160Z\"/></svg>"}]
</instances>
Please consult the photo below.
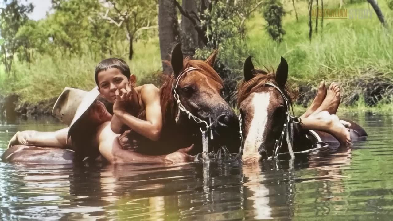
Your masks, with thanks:
<instances>
[{"instance_id":1,"label":"reddish mane of the left horse, nearest the boy","mask_svg":"<svg viewBox=\"0 0 393 221\"><path fill-rule=\"evenodd\" d=\"M207 59L209 61L211 58L215 57L217 51L213 52L212 55ZM165 61L168 65L171 65L169 61ZM204 74L208 78L212 79L213 81L219 83L220 85L224 85L221 77L217 74L217 72L206 62L200 61L200 60L191 60L190 57L186 57L183 59L183 69L180 70L182 72L186 68L189 67L196 67L198 68L201 74ZM172 85L173 85L173 73L171 75L162 73L161 74L161 79L163 81L163 84L160 87L160 93L161 93L161 109L162 109L162 116L163 116L163 123L165 123L165 119L168 115L169 116L175 116L176 114L176 109L174 106L174 101L173 101L173 94L172 94Z\"/></svg>"}]
</instances>

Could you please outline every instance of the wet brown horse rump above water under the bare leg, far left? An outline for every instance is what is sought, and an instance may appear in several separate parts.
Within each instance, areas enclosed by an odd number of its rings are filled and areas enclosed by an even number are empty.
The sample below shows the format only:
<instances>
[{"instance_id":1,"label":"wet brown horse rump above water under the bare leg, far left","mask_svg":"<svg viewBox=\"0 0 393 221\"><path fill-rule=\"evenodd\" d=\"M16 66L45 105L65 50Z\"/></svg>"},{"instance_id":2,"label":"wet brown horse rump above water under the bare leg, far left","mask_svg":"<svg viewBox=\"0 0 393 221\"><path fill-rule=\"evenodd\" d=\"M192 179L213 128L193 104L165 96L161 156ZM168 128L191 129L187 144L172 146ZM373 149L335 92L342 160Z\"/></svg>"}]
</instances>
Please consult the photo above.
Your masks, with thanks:
<instances>
[{"instance_id":1,"label":"wet brown horse rump above water under the bare leg, far left","mask_svg":"<svg viewBox=\"0 0 393 221\"><path fill-rule=\"evenodd\" d=\"M75 152L58 147L15 145L7 149L1 158L4 162L62 165L73 164Z\"/></svg>"}]
</instances>

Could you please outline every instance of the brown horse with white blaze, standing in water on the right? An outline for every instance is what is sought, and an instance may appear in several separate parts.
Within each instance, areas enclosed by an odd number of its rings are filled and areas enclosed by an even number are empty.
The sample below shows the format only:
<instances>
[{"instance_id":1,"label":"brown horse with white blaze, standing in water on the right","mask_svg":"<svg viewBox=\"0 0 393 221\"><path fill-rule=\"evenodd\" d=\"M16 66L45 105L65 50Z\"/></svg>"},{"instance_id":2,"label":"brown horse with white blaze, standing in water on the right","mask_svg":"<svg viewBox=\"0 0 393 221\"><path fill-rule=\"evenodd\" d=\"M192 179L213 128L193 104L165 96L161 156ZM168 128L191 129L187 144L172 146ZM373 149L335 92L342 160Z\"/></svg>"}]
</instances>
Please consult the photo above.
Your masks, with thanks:
<instances>
[{"instance_id":1,"label":"brown horse with white blaze, standing in water on the right","mask_svg":"<svg viewBox=\"0 0 393 221\"><path fill-rule=\"evenodd\" d=\"M255 155L257 159L260 156L272 156L274 148L281 144L280 152L288 152L287 133L293 139L294 151L310 149L317 142L338 142L330 134L309 132L301 129L297 123L288 122L288 119L292 119L288 114L292 108L294 92L287 85L287 78L288 64L283 57L276 72L271 73L254 68L251 57L244 63L244 81L239 87L237 100L242 117L243 152ZM349 122L352 124L352 140L367 137L362 127ZM291 126L289 131L285 129L287 126Z\"/></svg>"}]
</instances>

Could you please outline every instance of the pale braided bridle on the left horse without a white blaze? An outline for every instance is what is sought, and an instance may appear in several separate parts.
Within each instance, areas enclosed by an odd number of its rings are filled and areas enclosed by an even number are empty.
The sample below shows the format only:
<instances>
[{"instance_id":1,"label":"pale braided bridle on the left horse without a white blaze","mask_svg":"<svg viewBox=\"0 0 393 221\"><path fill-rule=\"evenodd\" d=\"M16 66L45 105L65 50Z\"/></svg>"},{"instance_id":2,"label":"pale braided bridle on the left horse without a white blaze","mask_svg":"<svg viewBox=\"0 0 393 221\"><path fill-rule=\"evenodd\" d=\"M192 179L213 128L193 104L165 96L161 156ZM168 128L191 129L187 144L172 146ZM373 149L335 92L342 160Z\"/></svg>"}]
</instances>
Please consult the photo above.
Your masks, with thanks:
<instances>
[{"instance_id":1,"label":"pale braided bridle on the left horse without a white blaze","mask_svg":"<svg viewBox=\"0 0 393 221\"><path fill-rule=\"evenodd\" d=\"M177 102L177 107L178 107L178 112L176 114L176 119L175 121L178 122L179 118L180 118L180 112L183 112L185 114L188 115L188 119L193 119L196 123L201 124L200 126L200 132L202 133L202 159L204 162L209 162L209 149L208 149L208 136L207 136L207 132L208 130L210 130L210 139L213 140L213 131L211 130L211 116L209 115L209 123L201 120L200 118L198 118L197 116L191 114L191 112L189 112L184 105L182 104L182 102L180 101L179 98L179 94L176 92L176 88L179 85L180 79L182 79L182 77L190 71L193 70L199 70L196 67L189 67L189 68L185 68L182 72L180 72L180 74L176 77L176 79L174 79L173 84L172 84L172 93L173 93L173 97L174 99L176 99ZM202 127L205 126L204 129L202 129Z\"/></svg>"}]
</instances>

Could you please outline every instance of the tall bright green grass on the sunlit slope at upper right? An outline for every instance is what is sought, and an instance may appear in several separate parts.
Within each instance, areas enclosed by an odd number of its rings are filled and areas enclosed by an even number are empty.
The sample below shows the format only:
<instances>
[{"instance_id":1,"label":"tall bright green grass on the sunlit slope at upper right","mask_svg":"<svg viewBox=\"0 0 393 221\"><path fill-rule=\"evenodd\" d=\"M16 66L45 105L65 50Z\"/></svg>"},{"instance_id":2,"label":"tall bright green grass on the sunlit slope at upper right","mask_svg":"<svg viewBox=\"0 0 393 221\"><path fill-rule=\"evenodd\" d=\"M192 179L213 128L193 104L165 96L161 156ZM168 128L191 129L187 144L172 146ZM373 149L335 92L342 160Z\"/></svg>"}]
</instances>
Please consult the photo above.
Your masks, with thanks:
<instances>
[{"instance_id":1,"label":"tall bright green grass on the sunlit slope at upper right","mask_svg":"<svg viewBox=\"0 0 393 221\"><path fill-rule=\"evenodd\" d=\"M325 8L334 8L329 3ZM386 2L378 4L386 20L393 24L393 13ZM367 3L346 6L347 9L368 8ZM312 22L315 27L315 19ZM283 21L286 35L278 44L266 34L263 18L257 15L248 23L248 46L253 50L253 61L258 66L276 68L283 56L288 61L292 81L302 83L348 79L360 76L362 70L370 67L393 76L393 31L382 28L375 14L371 20L325 19L323 34L320 23L319 20L319 33L316 35L314 30L310 43L308 16L299 16L297 22L294 15L287 15Z\"/></svg>"}]
</instances>

